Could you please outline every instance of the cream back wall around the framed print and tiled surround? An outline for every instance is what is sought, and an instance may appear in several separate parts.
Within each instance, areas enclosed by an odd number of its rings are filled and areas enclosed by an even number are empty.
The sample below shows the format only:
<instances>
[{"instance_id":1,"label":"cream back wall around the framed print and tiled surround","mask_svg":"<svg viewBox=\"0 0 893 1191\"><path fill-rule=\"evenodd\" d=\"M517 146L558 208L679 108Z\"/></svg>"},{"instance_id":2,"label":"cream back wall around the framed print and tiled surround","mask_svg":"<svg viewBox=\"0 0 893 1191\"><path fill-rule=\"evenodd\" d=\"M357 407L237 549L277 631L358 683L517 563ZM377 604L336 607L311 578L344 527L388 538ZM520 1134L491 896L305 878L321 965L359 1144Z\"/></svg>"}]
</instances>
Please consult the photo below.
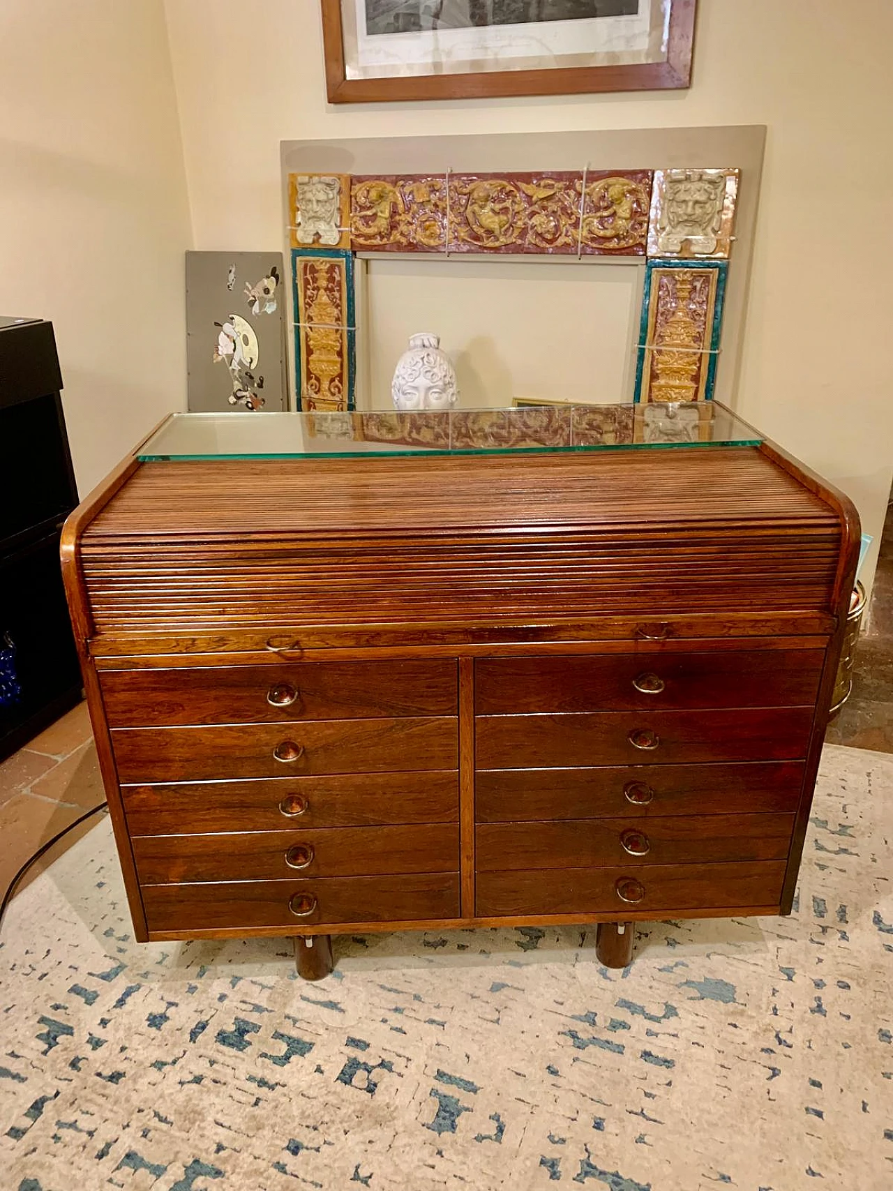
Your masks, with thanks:
<instances>
[{"instance_id":1,"label":"cream back wall around the framed print and tiled surround","mask_svg":"<svg viewBox=\"0 0 893 1191\"><path fill-rule=\"evenodd\" d=\"M889 0L700 0L687 92L343 107L325 101L317 0L166 7L196 248L282 243L281 139L768 125L738 407L880 534L893 479Z\"/></svg>"}]
</instances>

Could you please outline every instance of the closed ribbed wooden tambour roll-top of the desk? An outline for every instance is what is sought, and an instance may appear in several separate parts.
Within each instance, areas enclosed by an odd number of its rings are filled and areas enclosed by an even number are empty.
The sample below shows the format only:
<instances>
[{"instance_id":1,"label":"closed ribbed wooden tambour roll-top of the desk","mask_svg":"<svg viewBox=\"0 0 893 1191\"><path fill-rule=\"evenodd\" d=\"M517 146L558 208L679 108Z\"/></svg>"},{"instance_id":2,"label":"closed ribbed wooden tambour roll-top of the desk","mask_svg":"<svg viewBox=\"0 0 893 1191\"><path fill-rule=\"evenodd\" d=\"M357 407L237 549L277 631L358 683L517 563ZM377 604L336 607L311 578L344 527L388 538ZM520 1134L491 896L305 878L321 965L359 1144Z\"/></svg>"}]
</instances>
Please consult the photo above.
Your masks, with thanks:
<instances>
[{"instance_id":1,"label":"closed ribbed wooden tambour roll-top of the desk","mask_svg":"<svg viewBox=\"0 0 893 1191\"><path fill-rule=\"evenodd\" d=\"M218 460L143 464L82 566L100 635L824 612L839 537L755 448Z\"/></svg>"}]
</instances>

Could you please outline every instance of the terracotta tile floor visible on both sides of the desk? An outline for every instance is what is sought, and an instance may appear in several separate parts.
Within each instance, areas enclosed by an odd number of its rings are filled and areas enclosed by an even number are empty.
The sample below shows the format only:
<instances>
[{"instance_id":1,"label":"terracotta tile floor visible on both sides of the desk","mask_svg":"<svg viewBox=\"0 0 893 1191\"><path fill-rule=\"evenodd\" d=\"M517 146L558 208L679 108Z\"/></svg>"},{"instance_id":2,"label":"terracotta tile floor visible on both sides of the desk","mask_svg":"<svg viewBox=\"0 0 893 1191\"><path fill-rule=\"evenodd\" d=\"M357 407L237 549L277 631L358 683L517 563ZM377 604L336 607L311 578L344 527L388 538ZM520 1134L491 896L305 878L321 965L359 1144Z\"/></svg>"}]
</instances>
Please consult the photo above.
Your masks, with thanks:
<instances>
[{"instance_id":1,"label":"terracotta tile floor visible on both sides of the desk","mask_svg":"<svg viewBox=\"0 0 893 1191\"><path fill-rule=\"evenodd\" d=\"M853 694L829 728L828 741L893 753L893 507L881 542L872 616L856 650ZM0 896L45 840L104 798L87 704L82 703L0 763ZM88 819L73 831L45 862L95 822ZM20 887L40 867L35 865Z\"/></svg>"}]
</instances>

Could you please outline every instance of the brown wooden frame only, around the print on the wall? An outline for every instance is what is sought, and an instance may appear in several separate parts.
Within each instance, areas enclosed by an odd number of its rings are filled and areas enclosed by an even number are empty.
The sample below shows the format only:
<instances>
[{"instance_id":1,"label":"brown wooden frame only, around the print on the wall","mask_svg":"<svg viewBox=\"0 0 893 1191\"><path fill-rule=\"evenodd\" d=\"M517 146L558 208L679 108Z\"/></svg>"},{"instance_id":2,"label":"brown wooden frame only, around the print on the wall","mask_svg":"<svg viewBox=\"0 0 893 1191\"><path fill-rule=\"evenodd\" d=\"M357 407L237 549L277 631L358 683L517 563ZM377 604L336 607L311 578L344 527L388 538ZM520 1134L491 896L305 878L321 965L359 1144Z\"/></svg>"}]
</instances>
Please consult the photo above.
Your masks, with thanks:
<instances>
[{"instance_id":1,"label":"brown wooden frame only, around the print on the wall","mask_svg":"<svg viewBox=\"0 0 893 1191\"><path fill-rule=\"evenodd\" d=\"M431 99L572 95L589 92L664 91L688 87L697 0L670 0L667 57L662 62L486 70L456 74L348 79L343 0L320 0L325 79L331 104L380 104Z\"/></svg>"}]
</instances>

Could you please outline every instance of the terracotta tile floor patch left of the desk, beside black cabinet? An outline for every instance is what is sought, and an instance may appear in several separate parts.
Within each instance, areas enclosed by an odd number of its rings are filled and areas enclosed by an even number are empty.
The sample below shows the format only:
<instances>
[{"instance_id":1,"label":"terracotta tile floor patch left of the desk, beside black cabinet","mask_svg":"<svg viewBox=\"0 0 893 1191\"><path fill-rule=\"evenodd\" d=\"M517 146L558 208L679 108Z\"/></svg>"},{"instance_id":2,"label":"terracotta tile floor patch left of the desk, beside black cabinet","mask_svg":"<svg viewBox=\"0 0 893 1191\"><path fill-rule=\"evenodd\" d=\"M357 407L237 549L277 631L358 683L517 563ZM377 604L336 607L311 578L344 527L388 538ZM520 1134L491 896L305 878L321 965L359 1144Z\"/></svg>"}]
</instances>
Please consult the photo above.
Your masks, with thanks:
<instances>
[{"instance_id":1,"label":"terracotta tile floor patch left of the desk, beside black cabinet","mask_svg":"<svg viewBox=\"0 0 893 1191\"><path fill-rule=\"evenodd\" d=\"M93 747L87 704L36 736L27 748L0 762L0 896L29 856L85 810L105 802ZM67 836L46 856L58 852L93 827L99 816ZM19 888L40 872L37 863Z\"/></svg>"}]
</instances>

